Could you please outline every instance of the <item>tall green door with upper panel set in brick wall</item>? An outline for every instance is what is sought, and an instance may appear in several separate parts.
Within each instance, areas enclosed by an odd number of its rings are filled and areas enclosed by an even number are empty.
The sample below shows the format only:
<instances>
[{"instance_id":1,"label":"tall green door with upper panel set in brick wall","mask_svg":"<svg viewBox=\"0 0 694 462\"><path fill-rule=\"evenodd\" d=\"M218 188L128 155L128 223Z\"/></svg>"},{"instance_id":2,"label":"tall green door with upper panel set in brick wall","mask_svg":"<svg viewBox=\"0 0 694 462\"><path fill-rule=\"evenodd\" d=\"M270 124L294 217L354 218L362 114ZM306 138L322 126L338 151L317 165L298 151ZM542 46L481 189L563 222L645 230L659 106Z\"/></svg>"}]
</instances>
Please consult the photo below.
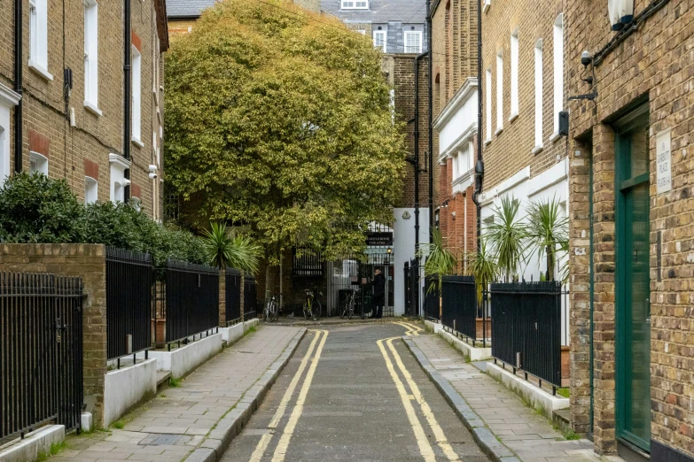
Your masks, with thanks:
<instances>
[{"instance_id":1,"label":"tall green door with upper panel set in brick wall","mask_svg":"<svg viewBox=\"0 0 694 462\"><path fill-rule=\"evenodd\" d=\"M617 437L650 451L651 279L647 115L617 136Z\"/></svg>"}]
</instances>

